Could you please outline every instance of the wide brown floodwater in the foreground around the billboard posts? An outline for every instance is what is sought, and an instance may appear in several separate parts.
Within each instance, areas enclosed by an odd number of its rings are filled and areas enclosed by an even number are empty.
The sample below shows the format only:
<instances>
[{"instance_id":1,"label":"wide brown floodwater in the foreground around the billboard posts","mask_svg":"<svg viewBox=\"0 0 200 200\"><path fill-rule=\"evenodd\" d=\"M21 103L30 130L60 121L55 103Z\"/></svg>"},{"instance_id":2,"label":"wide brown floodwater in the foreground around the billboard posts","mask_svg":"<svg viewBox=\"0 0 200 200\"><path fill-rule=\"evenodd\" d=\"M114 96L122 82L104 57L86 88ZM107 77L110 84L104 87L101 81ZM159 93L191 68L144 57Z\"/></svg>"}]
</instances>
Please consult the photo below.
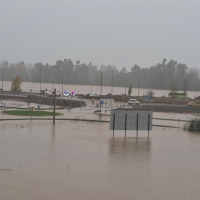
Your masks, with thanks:
<instances>
[{"instance_id":1,"label":"wide brown floodwater in the foreground around the billboard posts","mask_svg":"<svg viewBox=\"0 0 200 200\"><path fill-rule=\"evenodd\" d=\"M10 169L0 170L0 199L200 199L200 135L154 127L149 139L146 131L138 139L128 131L125 139L108 129L0 122L0 168Z\"/></svg>"}]
</instances>

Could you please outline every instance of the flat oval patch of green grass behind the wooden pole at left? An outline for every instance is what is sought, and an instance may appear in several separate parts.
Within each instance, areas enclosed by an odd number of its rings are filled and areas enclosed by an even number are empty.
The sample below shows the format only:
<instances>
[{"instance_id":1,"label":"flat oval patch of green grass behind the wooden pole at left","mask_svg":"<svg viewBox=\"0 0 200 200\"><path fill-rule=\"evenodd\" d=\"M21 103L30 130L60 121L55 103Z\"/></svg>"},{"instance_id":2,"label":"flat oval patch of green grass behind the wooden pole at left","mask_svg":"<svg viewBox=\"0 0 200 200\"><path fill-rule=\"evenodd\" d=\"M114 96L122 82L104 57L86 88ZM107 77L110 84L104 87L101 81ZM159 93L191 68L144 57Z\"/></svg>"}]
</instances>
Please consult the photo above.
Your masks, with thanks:
<instances>
[{"instance_id":1,"label":"flat oval patch of green grass behind the wooden pole at left","mask_svg":"<svg viewBox=\"0 0 200 200\"><path fill-rule=\"evenodd\" d=\"M2 111L3 114L7 115L18 115L18 116L53 116L53 112L33 110L5 110ZM61 113L55 113L56 116L62 115Z\"/></svg>"}]
</instances>

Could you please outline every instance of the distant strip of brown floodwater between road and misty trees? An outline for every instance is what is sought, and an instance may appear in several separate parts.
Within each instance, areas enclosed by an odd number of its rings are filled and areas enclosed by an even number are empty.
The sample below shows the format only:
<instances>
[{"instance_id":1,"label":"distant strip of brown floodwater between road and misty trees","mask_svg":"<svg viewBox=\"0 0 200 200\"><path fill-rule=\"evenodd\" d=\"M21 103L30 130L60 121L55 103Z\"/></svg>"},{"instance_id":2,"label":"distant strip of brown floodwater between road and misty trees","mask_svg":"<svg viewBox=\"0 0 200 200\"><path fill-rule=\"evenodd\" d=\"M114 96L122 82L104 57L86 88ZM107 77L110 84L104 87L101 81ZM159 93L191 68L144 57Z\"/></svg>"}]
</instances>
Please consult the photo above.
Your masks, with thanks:
<instances>
[{"instance_id":1,"label":"distant strip of brown floodwater between road and misty trees","mask_svg":"<svg viewBox=\"0 0 200 200\"><path fill-rule=\"evenodd\" d=\"M10 81L4 81L4 90L10 90L11 87L11 82ZM40 90L40 83L30 83L30 82L23 82L22 85L22 90L23 91L32 91L38 92ZM62 92L62 84L51 84L51 83L42 83L41 88L43 90L47 89L48 91L51 91L53 88L57 89L57 92L61 93ZM63 91L67 90L68 92L75 91L76 93L79 94L87 94L89 92L101 93L101 87L100 86L92 86L91 85L66 85L63 84ZM108 86L103 86L102 87L102 94L108 94L111 93L112 88ZM148 89L146 88L140 88L139 89L139 95L145 95ZM168 96L168 93L170 92L169 90L153 90L154 91L154 96L156 97L161 97L161 96ZM113 87L113 94L124 94L128 92L128 88L124 87ZM188 91L188 96L191 98L200 96L199 91ZM133 88L132 90L132 95L137 96L138 95L138 88Z\"/></svg>"}]
</instances>

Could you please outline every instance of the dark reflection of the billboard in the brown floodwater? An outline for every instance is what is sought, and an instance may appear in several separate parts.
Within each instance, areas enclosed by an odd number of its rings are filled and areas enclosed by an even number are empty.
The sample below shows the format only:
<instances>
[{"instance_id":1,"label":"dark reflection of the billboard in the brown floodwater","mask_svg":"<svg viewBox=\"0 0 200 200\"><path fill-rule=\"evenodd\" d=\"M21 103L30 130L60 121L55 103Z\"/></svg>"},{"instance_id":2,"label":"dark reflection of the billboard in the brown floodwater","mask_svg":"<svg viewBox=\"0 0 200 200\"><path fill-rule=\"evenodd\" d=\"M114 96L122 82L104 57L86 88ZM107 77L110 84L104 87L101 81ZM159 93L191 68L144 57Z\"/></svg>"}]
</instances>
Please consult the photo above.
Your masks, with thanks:
<instances>
[{"instance_id":1,"label":"dark reflection of the billboard in the brown floodwater","mask_svg":"<svg viewBox=\"0 0 200 200\"><path fill-rule=\"evenodd\" d=\"M135 167L147 167L151 161L151 141L147 138L109 139L111 162L128 162Z\"/></svg>"}]
</instances>

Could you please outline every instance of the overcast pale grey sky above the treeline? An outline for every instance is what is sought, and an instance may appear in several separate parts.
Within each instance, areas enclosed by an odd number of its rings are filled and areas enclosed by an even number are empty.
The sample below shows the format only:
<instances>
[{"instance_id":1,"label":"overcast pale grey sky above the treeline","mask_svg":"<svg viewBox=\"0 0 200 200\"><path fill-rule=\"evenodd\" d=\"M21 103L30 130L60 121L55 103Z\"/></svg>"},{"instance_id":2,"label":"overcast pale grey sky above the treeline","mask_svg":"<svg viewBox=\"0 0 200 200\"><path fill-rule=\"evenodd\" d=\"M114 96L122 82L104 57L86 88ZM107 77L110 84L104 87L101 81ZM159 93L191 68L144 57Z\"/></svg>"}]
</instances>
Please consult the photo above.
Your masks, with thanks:
<instances>
[{"instance_id":1,"label":"overcast pale grey sky above the treeline","mask_svg":"<svg viewBox=\"0 0 200 200\"><path fill-rule=\"evenodd\" d=\"M199 0L0 0L0 61L200 68Z\"/></svg>"}]
</instances>

